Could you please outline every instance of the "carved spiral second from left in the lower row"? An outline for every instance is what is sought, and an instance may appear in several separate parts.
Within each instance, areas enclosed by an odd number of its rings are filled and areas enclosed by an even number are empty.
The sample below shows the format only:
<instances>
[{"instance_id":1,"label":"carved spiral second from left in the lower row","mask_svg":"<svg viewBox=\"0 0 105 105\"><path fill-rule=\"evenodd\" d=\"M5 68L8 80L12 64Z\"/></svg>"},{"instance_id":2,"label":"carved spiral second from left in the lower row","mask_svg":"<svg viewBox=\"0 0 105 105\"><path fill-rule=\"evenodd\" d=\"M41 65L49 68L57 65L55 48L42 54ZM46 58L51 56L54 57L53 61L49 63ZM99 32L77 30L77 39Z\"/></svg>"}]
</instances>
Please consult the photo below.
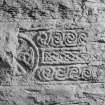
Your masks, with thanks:
<instances>
[{"instance_id":1,"label":"carved spiral second from left in the lower row","mask_svg":"<svg viewBox=\"0 0 105 105\"><path fill-rule=\"evenodd\" d=\"M66 80L68 77L68 70L67 68L56 68L55 71L55 79L58 81Z\"/></svg>"}]
</instances>

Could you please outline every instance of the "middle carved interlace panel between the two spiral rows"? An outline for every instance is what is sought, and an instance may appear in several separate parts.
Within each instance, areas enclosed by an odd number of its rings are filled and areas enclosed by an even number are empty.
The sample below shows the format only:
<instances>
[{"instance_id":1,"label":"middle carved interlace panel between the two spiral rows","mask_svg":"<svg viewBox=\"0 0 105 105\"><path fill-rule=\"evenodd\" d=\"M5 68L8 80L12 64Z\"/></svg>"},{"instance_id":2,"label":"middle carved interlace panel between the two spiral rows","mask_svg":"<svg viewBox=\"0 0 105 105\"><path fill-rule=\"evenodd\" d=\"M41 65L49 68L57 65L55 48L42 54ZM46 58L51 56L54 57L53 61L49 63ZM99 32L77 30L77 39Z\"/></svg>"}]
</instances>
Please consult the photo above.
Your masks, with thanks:
<instances>
[{"instance_id":1,"label":"middle carved interlace panel between the two spiral rows","mask_svg":"<svg viewBox=\"0 0 105 105\"><path fill-rule=\"evenodd\" d=\"M78 49L42 49L41 52L42 65L86 64L92 60L90 54L81 53Z\"/></svg>"}]
</instances>

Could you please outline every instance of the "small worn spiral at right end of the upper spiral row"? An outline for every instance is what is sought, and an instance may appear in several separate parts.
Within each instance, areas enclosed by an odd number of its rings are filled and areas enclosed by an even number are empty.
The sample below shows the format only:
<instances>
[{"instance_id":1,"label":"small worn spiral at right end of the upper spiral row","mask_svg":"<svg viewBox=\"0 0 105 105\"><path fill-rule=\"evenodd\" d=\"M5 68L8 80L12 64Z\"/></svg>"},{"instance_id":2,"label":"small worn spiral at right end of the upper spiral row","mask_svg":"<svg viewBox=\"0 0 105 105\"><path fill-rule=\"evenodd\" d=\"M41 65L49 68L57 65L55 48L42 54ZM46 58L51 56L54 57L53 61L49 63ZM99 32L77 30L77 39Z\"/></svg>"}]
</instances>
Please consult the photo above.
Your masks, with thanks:
<instances>
[{"instance_id":1,"label":"small worn spiral at right end of the upper spiral row","mask_svg":"<svg viewBox=\"0 0 105 105\"><path fill-rule=\"evenodd\" d=\"M79 45L85 44L87 42L88 34L86 32L79 32L77 42Z\"/></svg>"}]
</instances>

